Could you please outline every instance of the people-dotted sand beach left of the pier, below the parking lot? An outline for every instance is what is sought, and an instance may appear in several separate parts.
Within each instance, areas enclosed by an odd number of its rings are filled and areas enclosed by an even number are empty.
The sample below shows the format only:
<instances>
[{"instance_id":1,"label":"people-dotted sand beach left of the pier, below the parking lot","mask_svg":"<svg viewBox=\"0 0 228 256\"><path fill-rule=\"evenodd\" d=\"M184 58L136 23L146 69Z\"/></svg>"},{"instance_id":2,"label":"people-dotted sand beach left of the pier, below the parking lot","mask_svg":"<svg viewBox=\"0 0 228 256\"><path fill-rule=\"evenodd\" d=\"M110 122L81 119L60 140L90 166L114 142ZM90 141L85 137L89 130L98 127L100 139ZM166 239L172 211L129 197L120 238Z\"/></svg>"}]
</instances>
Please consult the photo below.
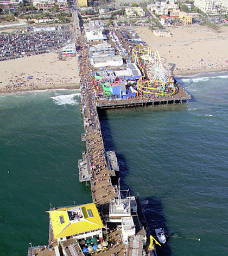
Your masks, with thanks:
<instances>
[{"instance_id":1,"label":"people-dotted sand beach left of the pier, below the parking lot","mask_svg":"<svg viewBox=\"0 0 228 256\"><path fill-rule=\"evenodd\" d=\"M59 60L58 53L44 53L0 62L0 70L0 92L79 88L77 57Z\"/></svg>"}]
</instances>

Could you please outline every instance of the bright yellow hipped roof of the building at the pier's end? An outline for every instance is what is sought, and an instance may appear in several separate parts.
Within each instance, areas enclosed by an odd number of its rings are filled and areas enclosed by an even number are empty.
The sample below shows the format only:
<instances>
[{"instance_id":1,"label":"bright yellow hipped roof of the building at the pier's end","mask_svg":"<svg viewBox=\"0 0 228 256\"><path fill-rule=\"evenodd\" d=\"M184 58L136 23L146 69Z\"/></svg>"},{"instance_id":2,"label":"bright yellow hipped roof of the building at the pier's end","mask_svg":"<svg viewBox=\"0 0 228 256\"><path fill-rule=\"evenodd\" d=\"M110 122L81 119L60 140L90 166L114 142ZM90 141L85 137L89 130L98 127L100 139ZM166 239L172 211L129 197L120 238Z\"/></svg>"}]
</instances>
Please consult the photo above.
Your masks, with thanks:
<instances>
[{"instance_id":1,"label":"bright yellow hipped roof of the building at the pier's end","mask_svg":"<svg viewBox=\"0 0 228 256\"><path fill-rule=\"evenodd\" d=\"M70 221L68 212L74 210L81 212L80 209L83 216L75 222ZM95 203L52 210L49 211L49 216L55 239L104 227Z\"/></svg>"}]
</instances>

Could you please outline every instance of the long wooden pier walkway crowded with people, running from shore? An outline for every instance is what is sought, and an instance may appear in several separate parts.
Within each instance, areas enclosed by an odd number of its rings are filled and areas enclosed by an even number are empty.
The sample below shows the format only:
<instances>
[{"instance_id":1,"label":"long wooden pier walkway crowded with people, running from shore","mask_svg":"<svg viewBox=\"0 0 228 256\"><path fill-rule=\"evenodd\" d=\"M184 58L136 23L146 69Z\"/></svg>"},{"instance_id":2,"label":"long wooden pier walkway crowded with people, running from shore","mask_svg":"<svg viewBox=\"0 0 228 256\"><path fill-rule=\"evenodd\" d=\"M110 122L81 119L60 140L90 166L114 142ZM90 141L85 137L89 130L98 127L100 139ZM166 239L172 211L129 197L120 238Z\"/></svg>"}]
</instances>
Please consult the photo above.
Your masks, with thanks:
<instances>
[{"instance_id":1,"label":"long wooden pier walkway crowded with people, running from shore","mask_svg":"<svg viewBox=\"0 0 228 256\"><path fill-rule=\"evenodd\" d=\"M115 196L111 183L111 170L107 168L104 143L93 94L92 66L89 61L88 45L84 37L79 39L78 60L81 88L81 107L84 117L85 141L91 169L91 190L93 202L109 202Z\"/></svg>"}]
</instances>

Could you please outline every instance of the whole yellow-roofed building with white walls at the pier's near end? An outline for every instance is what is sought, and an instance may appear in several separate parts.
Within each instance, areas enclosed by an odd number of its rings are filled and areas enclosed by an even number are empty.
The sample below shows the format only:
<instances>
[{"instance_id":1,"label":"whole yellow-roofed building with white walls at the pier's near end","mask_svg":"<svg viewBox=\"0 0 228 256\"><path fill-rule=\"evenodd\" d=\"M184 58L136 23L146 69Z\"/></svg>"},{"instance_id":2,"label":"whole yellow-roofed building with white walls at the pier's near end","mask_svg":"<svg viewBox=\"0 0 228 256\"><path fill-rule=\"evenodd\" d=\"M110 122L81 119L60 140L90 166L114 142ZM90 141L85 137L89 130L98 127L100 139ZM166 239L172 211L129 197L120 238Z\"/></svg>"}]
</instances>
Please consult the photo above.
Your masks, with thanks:
<instances>
[{"instance_id":1,"label":"whole yellow-roofed building with white walls at the pier's near end","mask_svg":"<svg viewBox=\"0 0 228 256\"><path fill-rule=\"evenodd\" d=\"M54 239L102 237L104 227L95 203L49 211Z\"/></svg>"}]
</instances>

